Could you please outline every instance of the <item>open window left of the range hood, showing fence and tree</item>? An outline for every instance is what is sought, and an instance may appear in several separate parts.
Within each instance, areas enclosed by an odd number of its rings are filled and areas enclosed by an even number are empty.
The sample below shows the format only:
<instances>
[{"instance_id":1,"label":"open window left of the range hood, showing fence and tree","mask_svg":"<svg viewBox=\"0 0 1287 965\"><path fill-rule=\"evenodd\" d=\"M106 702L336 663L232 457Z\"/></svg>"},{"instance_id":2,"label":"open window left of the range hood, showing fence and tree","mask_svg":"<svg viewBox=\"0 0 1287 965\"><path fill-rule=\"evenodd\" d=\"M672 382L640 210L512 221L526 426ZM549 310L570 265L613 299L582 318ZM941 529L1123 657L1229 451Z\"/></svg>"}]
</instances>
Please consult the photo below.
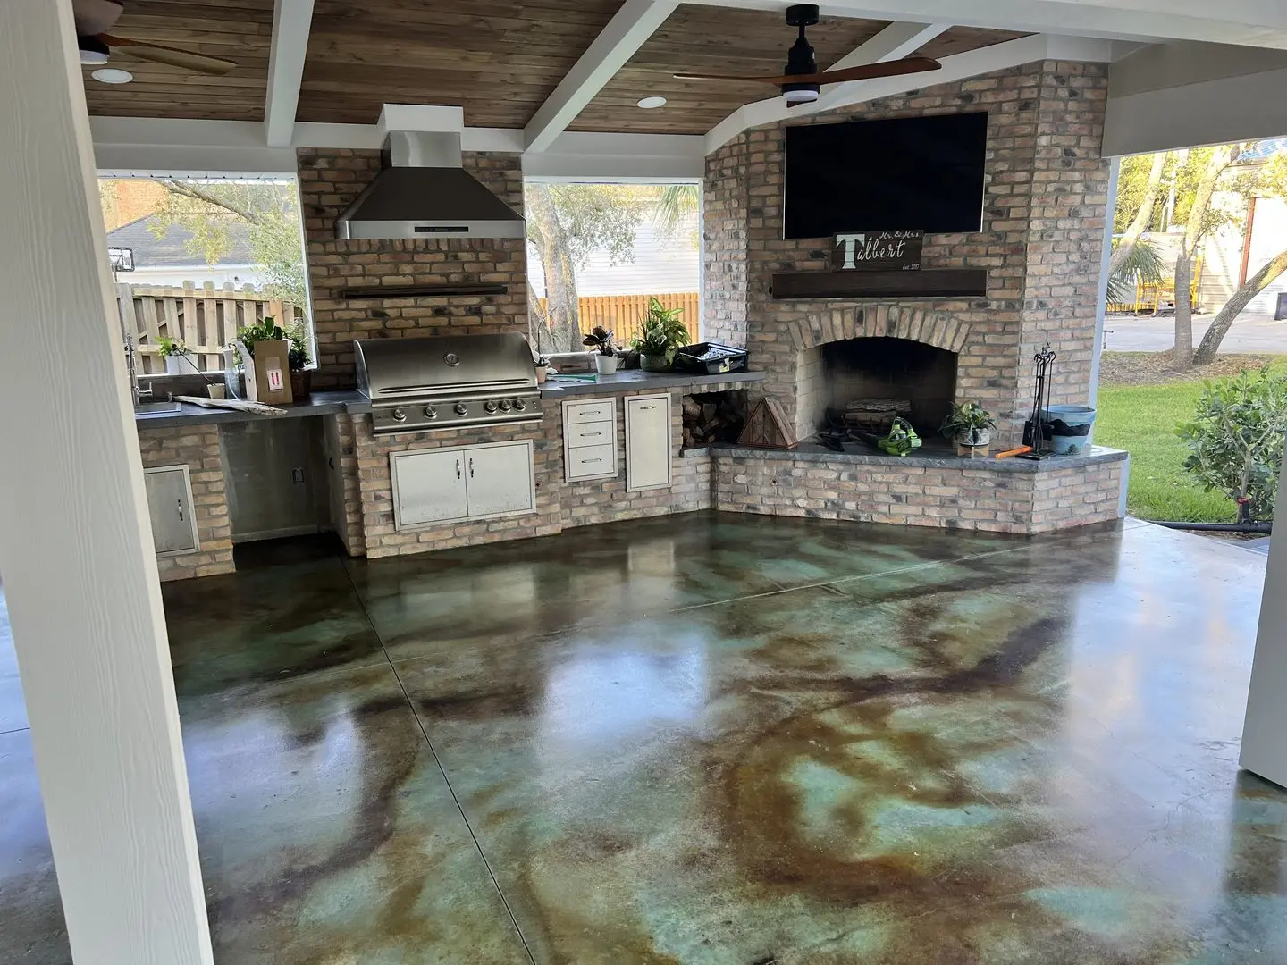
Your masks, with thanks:
<instances>
[{"instance_id":1,"label":"open window left of the range hood, showing fence and tree","mask_svg":"<svg viewBox=\"0 0 1287 965\"><path fill-rule=\"evenodd\" d=\"M121 323L140 374L223 368L220 349L265 315L315 358L293 178L100 178Z\"/></svg>"}]
</instances>

